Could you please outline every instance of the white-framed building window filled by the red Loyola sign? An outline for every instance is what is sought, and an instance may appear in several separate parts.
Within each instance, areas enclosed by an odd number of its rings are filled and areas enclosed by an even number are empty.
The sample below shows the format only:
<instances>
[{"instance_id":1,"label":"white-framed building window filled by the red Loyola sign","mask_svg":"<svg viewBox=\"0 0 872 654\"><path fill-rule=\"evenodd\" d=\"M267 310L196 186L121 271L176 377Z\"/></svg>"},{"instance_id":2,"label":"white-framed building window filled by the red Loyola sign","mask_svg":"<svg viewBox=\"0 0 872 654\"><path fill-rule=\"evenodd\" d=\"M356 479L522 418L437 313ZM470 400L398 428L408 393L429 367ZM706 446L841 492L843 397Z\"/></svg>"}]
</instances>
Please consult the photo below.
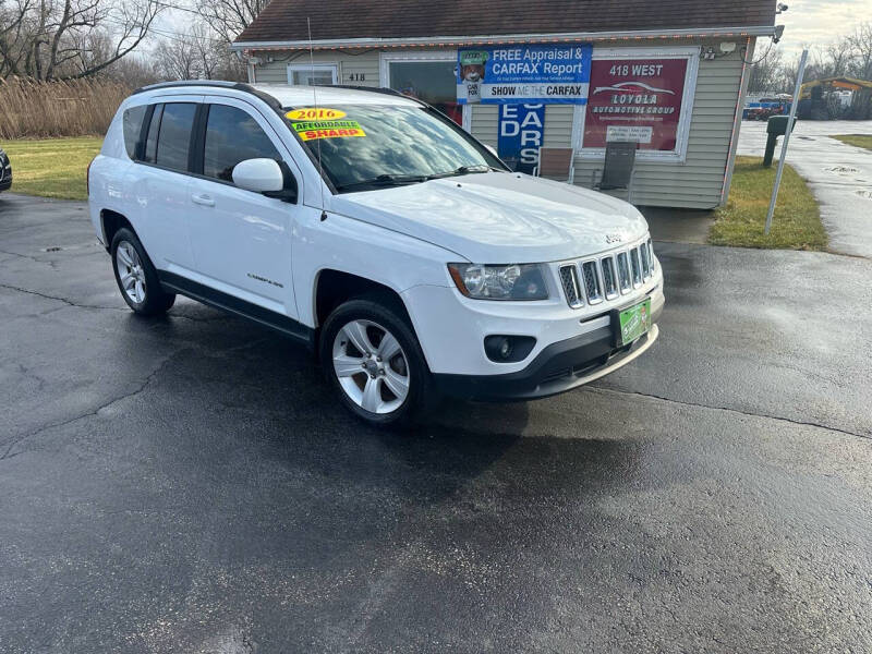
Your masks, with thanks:
<instances>
[{"instance_id":1,"label":"white-framed building window filled by the red Loyola sign","mask_svg":"<svg viewBox=\"0 0 872 654\"><path fill-rule=\"evenodd\" d=\"M682 161L697 85L699 48L594 48L582 156L609 141L635 141L642 160Z\"/></svg>"}]
</instances>

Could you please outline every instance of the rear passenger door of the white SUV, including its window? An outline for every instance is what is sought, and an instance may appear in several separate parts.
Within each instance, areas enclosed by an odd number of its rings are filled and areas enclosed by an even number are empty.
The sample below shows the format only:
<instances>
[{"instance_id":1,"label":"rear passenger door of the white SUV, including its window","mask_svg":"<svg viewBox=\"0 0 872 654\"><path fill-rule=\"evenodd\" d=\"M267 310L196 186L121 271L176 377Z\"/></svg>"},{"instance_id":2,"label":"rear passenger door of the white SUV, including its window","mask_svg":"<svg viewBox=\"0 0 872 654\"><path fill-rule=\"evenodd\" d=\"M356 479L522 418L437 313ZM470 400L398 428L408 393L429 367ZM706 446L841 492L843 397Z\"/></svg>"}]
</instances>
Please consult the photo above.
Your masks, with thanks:
<instances>
[{"instance_id":1,"label":"rear passenger door of the white SUV, including its window","mask_svg":"<svg viewBox=\"0 0 872 654\"><path fill-rule=\"evenodd\" d=\"M186 214L194 119L203 96L172 96L152 105L130 169L134 226L158 269L187 275L194 266Z\"/></svg>"}]
</instances>

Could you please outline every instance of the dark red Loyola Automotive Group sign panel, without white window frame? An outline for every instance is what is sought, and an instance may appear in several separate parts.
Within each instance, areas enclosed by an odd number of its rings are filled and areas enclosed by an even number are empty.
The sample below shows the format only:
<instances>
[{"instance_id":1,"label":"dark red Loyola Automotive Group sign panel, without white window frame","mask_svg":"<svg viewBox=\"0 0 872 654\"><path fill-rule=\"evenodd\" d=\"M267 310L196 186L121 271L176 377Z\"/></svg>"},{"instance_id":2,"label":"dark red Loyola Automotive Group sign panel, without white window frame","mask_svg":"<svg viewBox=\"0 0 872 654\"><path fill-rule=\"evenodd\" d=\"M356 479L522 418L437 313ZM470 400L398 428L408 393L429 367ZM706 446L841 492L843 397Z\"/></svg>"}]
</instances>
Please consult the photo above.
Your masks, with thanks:
<instances>
[{"instance_id":1,"label":"dark red Loyola Automotive Group sign panel, without white window frame","mask_svg":"<svg viewBox=\"0 0 872 654\"><path fill-rule=\"evenodd\" d=\"M686 58L595 60L583 147L635 141L642 150L674 150L687 70Z\"/></svg>"}]
</instances>

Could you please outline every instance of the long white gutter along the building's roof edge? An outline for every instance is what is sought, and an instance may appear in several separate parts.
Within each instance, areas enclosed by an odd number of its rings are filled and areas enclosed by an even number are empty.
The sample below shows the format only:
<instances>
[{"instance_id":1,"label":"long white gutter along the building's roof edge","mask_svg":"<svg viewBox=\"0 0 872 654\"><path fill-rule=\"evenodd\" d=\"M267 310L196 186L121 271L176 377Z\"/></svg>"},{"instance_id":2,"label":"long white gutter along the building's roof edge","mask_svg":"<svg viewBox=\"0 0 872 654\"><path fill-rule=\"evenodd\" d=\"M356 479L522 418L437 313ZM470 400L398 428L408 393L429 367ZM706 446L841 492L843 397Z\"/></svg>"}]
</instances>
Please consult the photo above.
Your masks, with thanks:
<instances>
[{"instance_id":1,"label":"long white gutter along the building's roof edge","mask_svg":"<svg viewBox=\"0 0 872 654\"><path fill-rule=\"evenodd\" d=\"M401 38L336 38L323 40L265 40L230 45L232 50L336 50L338 48L409 48L471 46L512 43L560 43L641 40L650 38L705 38L737 36L774 36L775 25L744 27L699 27L691 29L638 29L630 32L565 32L560 34L495 34L480 36L427 36Z\"/></svg>"}]
</instances>

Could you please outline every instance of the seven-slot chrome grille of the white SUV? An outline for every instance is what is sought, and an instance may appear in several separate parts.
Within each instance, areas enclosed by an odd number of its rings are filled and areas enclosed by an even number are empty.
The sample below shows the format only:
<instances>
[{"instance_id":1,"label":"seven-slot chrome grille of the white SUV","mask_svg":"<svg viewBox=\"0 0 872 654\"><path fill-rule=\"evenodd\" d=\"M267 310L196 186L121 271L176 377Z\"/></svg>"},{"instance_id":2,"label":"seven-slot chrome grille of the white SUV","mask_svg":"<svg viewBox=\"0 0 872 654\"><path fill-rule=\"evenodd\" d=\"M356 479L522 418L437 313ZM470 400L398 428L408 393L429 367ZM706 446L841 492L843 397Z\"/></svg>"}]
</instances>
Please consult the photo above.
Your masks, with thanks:
<instances>
[{"instance_id":1,"label":"seven-slot chrome grille of the white SUV","mask_svg":"<svg viewBox=\"0 0 872 654\"><path fill-rule=\"evenodd\" d=\"M558 274L567 303L573 308L615 300L654 277L656 264L651 239L600 261L564 264Z\"/></svg>"}]
</instances>

